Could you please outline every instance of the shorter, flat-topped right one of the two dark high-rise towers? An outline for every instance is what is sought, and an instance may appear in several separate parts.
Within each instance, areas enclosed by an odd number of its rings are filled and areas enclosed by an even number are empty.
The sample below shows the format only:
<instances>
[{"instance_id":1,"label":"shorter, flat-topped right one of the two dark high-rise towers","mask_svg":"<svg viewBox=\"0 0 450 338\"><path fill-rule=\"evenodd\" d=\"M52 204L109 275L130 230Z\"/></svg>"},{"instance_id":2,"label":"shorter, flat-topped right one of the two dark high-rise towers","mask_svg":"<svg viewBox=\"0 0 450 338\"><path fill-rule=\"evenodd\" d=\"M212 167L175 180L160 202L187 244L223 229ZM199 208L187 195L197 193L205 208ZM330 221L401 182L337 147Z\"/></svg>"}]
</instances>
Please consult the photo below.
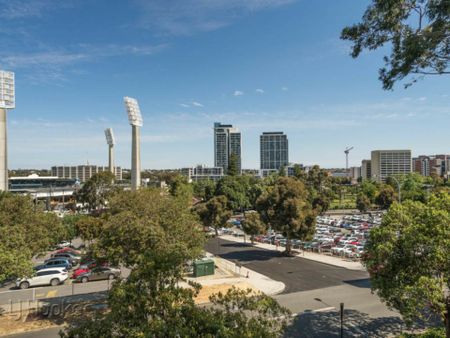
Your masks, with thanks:
<instances>
[{"instance_id":1,"label":"shorter, flat-topped right one of the two dark high-rise towers","mask_svg":"<svg viewBox=\"0 0 450 338\"><path fill-rule=\"evenodd\" d=\"M282 132L265 132L260 136L261 176L265 177L289 165L287 135Z\"/></svg>"}]
</instances>

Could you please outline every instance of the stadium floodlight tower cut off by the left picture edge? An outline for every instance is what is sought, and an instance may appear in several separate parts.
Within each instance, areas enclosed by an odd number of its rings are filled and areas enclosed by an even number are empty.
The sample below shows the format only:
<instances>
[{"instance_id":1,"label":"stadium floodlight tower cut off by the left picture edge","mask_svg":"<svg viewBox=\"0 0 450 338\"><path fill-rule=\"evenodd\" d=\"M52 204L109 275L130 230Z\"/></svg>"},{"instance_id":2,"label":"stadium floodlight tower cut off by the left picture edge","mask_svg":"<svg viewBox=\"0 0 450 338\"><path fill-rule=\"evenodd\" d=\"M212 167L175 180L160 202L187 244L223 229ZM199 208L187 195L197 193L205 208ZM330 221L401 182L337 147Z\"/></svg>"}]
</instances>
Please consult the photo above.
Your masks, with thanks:
<instances>
[{"instance_id":1,"label":"stadium floodlight tower cut off by the left picture edge","mask_svg":"<svg viewBox=\"0 0 450 338\"><path fill-rule=\"evenodd\" d=\"M0 190L8 190L6 111L15 108L14 73L0 70Z\"/></svg>"}]
</instances>

